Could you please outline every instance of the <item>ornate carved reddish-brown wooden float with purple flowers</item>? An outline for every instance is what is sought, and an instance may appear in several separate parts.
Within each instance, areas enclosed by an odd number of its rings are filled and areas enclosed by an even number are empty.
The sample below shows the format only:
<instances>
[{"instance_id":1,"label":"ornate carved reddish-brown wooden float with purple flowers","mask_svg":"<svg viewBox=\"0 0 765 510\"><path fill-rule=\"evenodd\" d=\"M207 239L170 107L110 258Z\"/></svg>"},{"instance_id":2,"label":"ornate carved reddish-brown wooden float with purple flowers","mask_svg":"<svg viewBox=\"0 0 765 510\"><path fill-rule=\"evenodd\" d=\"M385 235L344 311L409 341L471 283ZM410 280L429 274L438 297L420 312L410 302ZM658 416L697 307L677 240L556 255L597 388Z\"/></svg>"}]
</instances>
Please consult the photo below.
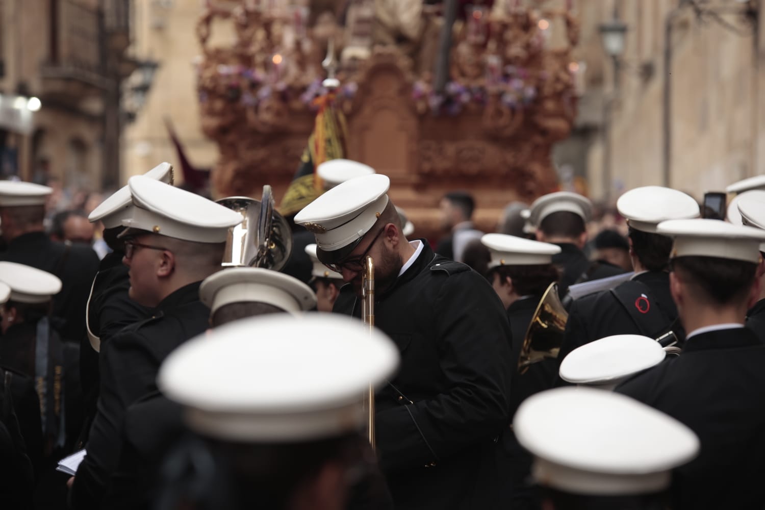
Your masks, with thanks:
<instances>
[{"instance_id":1,"label":"ornate carved reddish-brown wooden float with purple flowers","mask_svg":"<svg viewBox=\"0 0 765 510\"><path fill-rule=\"evenodd\" d=\"M324 15L308 28L284 12L253 5L245 1L230 9L210 2L200 17L201 123L220 146L212 175L217 196L257 197L264 184L271 184L279 199L314 125L311 99L323 92L327 37L334 37L339 57L343 31ZM433 26L432 11L427 16ZM235 44L209 46L216 19L233 23ZM546 46L542 19L561 21L565 44ZM450 82L441 95L432 90L431 71L416 71L422 65L399 47L363 49L363 41L372 41L363 33L368 21L362 29L346 29L353 34L353 50L345 54L356 59L338 72L343 87L337 101L350 130L348 153L391 177L391 195L418 236L438 237L435 207L449 190L474 193L477 223L486 230L494 228L506 203L530 202L555 190L550 151L568 136L576 111L568 64L578 21L571 12L494 12L480 27L480 37L470 20L457 22ZM304 36L296 37L302 31Z\"/></svg>"}]
</instances>

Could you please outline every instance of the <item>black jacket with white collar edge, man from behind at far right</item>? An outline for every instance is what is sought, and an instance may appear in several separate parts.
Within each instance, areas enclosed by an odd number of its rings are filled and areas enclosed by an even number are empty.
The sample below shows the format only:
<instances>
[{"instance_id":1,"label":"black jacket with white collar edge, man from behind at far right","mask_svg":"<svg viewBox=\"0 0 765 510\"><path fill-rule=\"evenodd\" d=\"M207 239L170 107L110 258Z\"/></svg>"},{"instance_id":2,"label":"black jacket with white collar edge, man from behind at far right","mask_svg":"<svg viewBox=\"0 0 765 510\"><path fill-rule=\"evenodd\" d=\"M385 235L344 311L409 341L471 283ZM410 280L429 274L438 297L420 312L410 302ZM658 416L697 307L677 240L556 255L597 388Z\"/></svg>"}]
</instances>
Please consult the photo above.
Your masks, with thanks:
<instances>
[{"instance_id":1,"label":"black jacket with white collar edge, man from behind at far right","mask_svg":"<svg viewBox=\"0 0 765 510\"><path fill-rule=\"evenodd\" d=\"M675 469L675 510L763 508L765 346L746 328L691 336L682 354L617 387L690 427L695 460Z\"/></svg>"}]
</instances>

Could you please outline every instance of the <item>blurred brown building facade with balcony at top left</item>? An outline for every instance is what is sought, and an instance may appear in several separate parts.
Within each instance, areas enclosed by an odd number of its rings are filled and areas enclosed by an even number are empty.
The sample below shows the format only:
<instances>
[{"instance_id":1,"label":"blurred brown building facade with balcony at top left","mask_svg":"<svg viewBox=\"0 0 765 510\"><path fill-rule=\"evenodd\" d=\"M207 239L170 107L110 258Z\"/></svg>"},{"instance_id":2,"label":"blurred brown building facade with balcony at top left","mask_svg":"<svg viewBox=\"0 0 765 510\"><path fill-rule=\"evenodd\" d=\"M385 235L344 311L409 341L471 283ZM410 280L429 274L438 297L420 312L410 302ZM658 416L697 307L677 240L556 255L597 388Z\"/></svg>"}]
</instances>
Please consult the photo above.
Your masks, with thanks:
<instances>
[{"instance_id":1,"label":"blurred brown building facade with balcony at top left","mask_svg":"<svg viewBox=\"0 0 765 510\"><path fill-rule=\"evenodd\" d=\"M5 177L90 190L119 181L129 0L0 0L0 95L37 97L28 131L0 109ZM15 99L14 99L15 101ZM5 101L8 105L8 101Z\"/></svg>"}]
</instances>

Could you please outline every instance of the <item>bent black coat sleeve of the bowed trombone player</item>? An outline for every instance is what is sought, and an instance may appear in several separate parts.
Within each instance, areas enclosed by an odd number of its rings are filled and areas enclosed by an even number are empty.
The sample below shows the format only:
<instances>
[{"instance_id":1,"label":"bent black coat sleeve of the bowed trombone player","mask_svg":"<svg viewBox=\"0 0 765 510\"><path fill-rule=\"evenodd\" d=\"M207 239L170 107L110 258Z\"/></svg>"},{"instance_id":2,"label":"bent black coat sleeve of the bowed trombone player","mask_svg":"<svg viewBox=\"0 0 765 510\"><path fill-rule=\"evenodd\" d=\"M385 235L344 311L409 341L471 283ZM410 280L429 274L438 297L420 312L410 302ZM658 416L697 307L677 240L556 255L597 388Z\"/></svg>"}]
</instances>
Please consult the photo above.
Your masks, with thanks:
<instances>
[{"instance_id":1,"label":"bent black coat sleeve of the bowed trombone player","mask_svg":"<svg viewBox=\"0 0 765 510\"><path fill-rule=\"evenodd\" d=\"M435 300L444 391L377 413L383 470L438 463L506 425L512 333L500 300L479 278L473 271L451 275Z\"/></svg>"}]
</instances>

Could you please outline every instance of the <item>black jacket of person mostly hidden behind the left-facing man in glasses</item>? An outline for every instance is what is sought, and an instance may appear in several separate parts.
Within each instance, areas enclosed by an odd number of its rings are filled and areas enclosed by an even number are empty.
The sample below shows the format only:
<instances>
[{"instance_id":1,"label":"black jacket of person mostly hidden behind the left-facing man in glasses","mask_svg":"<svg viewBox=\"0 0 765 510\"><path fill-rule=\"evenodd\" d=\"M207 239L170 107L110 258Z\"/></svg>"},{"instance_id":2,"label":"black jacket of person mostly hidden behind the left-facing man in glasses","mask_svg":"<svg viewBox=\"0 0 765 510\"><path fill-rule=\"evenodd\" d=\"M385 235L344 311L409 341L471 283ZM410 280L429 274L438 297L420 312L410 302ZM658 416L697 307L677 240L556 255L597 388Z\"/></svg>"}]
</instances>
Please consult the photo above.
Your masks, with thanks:
<instances>
[{"instance_id":1,"label":"black jacket of person mostly hidden behind the left-facing man in glasses","mask_svg":"<svg viewBox=\"0 0 765 510\"><path fill-rule=\"evenodd\" d=\"M106 255L99 265L88 301L88 326L101 343L106 343L122 328L151 317L151 310L128 297L129 269L122 264L122 252ZM80 345L80 374L85 398L86 426L90 428L96 414L99 390L98 352L90 339L83 336ZM83 437L85 439L85 437Z\"/></svg>"}]
</instances>

